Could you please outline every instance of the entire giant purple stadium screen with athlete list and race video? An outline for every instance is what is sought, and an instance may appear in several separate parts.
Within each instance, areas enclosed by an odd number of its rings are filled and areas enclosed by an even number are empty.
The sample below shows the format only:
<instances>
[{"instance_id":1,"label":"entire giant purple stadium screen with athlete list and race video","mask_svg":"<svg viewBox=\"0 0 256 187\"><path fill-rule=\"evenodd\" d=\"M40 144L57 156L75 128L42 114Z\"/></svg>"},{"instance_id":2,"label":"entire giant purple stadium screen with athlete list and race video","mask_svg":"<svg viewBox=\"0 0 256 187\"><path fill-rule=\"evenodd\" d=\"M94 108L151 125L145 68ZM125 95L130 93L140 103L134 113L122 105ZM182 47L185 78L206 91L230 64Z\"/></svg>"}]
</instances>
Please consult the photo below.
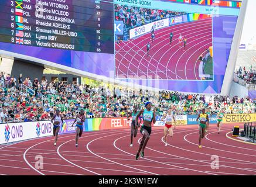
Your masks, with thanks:
<instances>
[{"instance_id":1,"label":"entire giant purple stadium screen with athlete list and race video","mask_svg":"<svg viewBox=\"0 0 256 187\"><path fill-rule=\"evenodd\" d=\"M87 75L220 93L240 1L0 1L0 53ZM54 54L54 55L53 55Z\"/></svg>"}]
</instances>

